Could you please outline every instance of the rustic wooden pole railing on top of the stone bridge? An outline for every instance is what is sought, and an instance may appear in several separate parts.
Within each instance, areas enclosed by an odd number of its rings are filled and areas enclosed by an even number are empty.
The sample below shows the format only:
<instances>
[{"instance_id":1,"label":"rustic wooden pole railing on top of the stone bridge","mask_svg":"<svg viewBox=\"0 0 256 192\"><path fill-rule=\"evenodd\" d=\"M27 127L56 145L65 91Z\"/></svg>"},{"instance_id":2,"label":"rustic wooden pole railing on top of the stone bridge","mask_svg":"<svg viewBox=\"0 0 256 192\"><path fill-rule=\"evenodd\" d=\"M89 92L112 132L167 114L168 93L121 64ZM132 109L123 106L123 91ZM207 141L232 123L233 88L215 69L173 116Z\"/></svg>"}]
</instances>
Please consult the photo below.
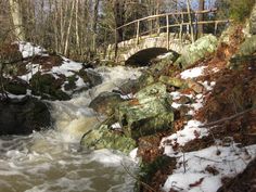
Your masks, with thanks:
<instances>
[{"instance_id":1,"label":"rustic wooden pole railing on top of the stone bridge","mask_svg":"<svg viewBox=\"0 0 256 192\"><path fill-rule=\"evenodd\" d=\"M126 28L126 27L129 27L132 25L135 26L136 35L133 37L131 37L131 38L136 38L135 46L139 44L141 36L149 35L152 31L156 31L156 30L159 34L161 29L166 29L167 50L169 50L169 40L170 40L171 28L177 28L177 27L179 28L179 37L180 37L180 40L182 40L183 26L185 26L187 33L191 31L190 36L194 36L194 34L193 34L194 26L196 27L195 31L197 31L199 25L214 24L215 25L214 34L216 34L218 30L219 24L227 24L227 23L231 22L229 20L215 20L215 21L199 21L197 20L200 14L215 13L216 11L217 11L217 9L203 10L203 11L163 13L163 14L151 15L151 16L146 16L143 18L139 18L139 20L129 22L125 25L121 25L115 29L115 56L117 55L117 51L118 51L118 42L119 42L118 31ZM185 21L184 18L191 18L191 17L195 18L194 22L192 22L192 20L188 20L187 22L184 22ZM146 31L142 31L141 30L142 22L153 21L153 20L162 20L162 24L163 24L163 21L165 21L164 22L165 25L164 26L159 25L154 28L152 27ZM172 23L174 21L175 21L175 23ZM193 41L193 39L194 39L194 37L192 37L192 41Z\"/></svg>"}]
</instances>

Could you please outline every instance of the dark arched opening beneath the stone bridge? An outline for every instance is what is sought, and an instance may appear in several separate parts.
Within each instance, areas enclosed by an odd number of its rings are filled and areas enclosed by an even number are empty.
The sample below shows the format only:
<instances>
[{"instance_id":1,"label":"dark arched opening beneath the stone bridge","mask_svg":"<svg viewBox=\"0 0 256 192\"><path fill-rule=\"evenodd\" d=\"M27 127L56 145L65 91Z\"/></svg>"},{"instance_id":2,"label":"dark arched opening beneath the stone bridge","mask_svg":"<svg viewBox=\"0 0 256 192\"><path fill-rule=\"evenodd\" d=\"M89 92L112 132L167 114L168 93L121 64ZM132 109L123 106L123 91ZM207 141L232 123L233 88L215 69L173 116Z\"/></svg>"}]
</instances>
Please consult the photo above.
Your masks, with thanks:
<instances>
[{"instance_id":1,"label":"dark arched opening beneath the stone bridge","mask_svg":"<svg viewBox=\"0 0 256 192\"><path fill-rule=\"evenodd\" d=\"M151 61L156 56L171 52L168 51L166 48L148 48L138 51L137 53L132 54L128 60L125 62L126 65L131 66L148 66L151 64ZM175 51L172 51L175 52ZM176 52L175 52L176 53Z\"/></svg>"}]
</instances>

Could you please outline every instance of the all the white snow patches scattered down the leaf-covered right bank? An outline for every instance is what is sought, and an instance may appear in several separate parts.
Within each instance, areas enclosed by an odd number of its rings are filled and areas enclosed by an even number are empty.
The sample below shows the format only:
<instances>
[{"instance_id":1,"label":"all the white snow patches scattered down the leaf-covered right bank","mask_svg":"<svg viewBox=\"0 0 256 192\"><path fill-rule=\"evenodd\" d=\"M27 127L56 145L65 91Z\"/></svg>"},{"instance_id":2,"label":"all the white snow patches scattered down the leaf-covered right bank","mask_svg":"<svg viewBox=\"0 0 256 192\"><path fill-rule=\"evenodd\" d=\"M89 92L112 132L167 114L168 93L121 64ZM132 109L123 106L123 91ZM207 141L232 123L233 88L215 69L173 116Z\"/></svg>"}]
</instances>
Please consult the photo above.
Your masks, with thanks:
<instances>
[{"instance_id":1,"label":"all the white snow patches scattered down the leaf-covered right bank","mask_svg":"<svg viewBox=\"0 0 256 192\"><path fill-rule=\"evenodd\" d=\"M181 78L202 76L204 68L205 66L184 71L181 73ZM215 71L218 71L218 68ZM207 91L212 91L216 85L215 81L199 82ZM185 94L176 91L171 92L170 95L174 100L179 100ZM187 94L185 97L194 100L192 104L185 104L193 108L188 114L194 115L199 108L203 107L205 99L203 93L194 97ZM175 108L180 106L181 104L172 103ZM247 164L256 157L256 144L239 148L239 143L234 143L232 138L230 138L228 144L216 140L215 144L209 148L182 153L182 149L179 146L183 146L194 139L208 136L208 129L202 127L203 123L191 119L182 130L163 138L159 148L164 149L164 154L177 158L177 167L168 176L163 187L164 191L168 192L172 189L179 192L216 192L222 185L222 178L232 178L242 172Z\"/></svg>"}]
</instances>

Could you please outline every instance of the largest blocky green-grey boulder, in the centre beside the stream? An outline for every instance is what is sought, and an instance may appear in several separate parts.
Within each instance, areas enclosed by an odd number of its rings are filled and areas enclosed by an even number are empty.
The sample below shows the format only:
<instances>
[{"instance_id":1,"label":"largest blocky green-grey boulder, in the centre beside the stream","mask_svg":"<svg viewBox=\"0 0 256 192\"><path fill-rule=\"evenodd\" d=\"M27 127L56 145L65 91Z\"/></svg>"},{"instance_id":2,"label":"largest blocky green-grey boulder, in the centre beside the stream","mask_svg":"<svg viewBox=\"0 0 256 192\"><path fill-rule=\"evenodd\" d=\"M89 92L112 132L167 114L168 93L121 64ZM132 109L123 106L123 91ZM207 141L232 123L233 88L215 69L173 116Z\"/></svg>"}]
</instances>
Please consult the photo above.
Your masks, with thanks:
<instances>
[{"instance_id":1,"label":"largest blocky green-grey boulder, in the centre beside the stream","mask_svg":"<svg viewBox=\"0 0 256 192\"><path fill-rule=\"evenodd\" d=\"M157 82L145 87L136 99L120 103L115 117L127 137L138 139L171 127L174 112L168 102L166 86Z\"/></svg>"}]
</instances>

